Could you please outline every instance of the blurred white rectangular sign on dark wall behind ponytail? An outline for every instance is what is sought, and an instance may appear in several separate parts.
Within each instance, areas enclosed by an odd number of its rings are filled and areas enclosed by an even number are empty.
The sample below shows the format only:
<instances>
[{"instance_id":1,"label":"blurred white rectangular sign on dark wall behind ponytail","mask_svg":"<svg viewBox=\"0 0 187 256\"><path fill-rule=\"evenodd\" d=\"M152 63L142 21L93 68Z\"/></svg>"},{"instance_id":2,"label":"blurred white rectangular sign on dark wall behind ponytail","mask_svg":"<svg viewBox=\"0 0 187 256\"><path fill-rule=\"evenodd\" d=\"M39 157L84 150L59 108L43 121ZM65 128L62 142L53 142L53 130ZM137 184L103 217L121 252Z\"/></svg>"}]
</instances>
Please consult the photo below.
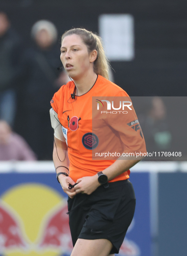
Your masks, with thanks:
<instances>
[{"instance_id":1,"label":"blurred white rectangular sign on dark wall behind ponytail","mask_svg":"<svg viewBox=\"0 0 187 256\"><path fill-rule=\"evenodd\" d=\"M134 59L134 17L130 14L99 16L99 35L110 61Z\"/></svg>"}]
</instances>

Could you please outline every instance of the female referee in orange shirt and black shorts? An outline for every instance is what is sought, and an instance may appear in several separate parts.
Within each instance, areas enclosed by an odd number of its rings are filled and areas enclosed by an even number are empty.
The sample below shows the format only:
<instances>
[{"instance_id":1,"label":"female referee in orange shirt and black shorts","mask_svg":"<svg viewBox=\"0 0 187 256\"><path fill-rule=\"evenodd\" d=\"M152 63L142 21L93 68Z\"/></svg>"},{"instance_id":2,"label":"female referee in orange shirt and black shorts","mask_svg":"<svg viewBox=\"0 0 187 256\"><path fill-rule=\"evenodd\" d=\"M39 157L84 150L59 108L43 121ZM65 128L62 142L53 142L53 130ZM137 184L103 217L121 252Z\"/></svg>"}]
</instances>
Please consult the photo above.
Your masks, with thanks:
<instances>
[{"instance_id":1,"label":"female referee in orange shirt and black shorts","mask_svg":"<svg viewBox=\"0 0 187 256\"><path fill-rule=\"evenodd\" d=\"M128 97L108 80L109 62L99 36L82 28L66 31L60 59L73 80L54 94L50 116L57 179L68 195L71 256L111 256L119 253L133 219L135 195L128 178L139 159L93 160L92 151L104 135L106 149L112 136L128 152L146 152L145 141L134 109L123 127L105 120L104 134L103 129L92 133L92 96Z\"/></svg>"}]
</instances>

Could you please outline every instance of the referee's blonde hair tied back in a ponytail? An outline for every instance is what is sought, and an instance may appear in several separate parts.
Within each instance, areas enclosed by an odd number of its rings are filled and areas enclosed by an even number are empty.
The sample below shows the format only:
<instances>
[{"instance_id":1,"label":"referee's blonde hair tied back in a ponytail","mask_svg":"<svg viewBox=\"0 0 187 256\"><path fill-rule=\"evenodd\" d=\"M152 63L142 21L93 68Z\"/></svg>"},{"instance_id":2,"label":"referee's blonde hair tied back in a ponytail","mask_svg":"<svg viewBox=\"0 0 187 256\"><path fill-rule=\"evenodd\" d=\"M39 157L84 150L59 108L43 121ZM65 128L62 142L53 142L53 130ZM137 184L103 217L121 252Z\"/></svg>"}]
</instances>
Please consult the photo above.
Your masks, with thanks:
<instances>
[{"instance_id":1,"label":"referee's blonde hair tied back in a ponytail","mask_svg":"<svg viewBox=\"0 0 187 256\"><path fill-rule=\"evenodd\" d=\"M103 42L100 36L92 33L84 28L73 28L66 31L62 35L61 42L65 38L65 36L76 34L79 35L84 44L88 48L88 52L92 52L93 50L97 51L97 58L94 61L94 72L98 75L103 76L104 78L109 79L109 60L107 59L104 49Z\"/></svg>"}]
</instances>

